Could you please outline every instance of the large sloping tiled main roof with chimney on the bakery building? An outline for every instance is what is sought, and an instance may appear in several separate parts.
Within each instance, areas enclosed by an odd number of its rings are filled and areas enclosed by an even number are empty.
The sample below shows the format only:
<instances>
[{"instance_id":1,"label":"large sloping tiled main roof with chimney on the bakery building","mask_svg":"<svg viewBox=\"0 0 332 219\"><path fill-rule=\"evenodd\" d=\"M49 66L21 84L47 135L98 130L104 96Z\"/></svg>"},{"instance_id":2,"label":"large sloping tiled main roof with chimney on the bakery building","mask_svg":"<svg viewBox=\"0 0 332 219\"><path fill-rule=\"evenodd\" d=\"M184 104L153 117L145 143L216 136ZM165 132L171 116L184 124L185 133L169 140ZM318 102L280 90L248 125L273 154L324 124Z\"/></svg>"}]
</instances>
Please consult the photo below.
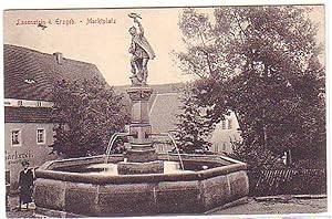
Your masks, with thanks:
<instances>
[{"instance_id":1,"label":"large sloping tiled main roof with chimney on the bakery building","mask_svg":"<svg viewBox=\"0 0 332 219\"><path fill-rule=\"evenodd\" d=\"M58 81L79 81L102 74L94 64L18 45L3 45L4 98L51 101Z\"/></svg>"}]
</instances>

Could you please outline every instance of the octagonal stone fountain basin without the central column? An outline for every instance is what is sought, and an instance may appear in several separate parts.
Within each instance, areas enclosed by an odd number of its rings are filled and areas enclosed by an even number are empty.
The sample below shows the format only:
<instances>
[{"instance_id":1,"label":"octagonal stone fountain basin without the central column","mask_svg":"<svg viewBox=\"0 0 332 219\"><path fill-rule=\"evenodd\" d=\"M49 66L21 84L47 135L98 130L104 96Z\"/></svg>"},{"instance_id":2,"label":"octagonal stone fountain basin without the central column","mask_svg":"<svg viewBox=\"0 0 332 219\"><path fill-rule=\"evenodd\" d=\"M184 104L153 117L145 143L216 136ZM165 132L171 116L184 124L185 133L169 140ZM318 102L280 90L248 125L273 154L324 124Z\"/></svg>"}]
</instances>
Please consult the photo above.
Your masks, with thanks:
<instances>
[{"instance_id":1,"label":"octagonal stone fountain basin without the central column","mask_svg":"<svg viewBox=\"0 0 332 219\"><path fill-rule=\"evenodd\" d=\"M159 154L163 174L118 175L123 155L48 161L37 171L35 215L49 217L201 213L249 192L247 165L215 155Z\"/></svg>"}]
</instances>

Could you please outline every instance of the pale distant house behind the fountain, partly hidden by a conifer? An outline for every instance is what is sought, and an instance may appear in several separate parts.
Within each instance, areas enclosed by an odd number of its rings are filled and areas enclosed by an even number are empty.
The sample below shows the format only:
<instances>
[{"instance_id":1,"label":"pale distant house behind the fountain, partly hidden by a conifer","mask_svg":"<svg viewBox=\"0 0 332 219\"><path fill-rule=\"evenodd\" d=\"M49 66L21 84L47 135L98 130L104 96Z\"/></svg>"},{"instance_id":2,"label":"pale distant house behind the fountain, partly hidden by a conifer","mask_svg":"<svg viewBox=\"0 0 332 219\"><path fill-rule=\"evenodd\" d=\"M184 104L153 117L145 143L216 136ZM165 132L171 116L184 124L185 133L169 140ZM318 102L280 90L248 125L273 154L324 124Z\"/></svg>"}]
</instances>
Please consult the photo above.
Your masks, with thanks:
<instances>
[{"instance_id":1,"label":"pale distant house behind the fountain, partly hidden by a conifer","mask_svg":"<svg viewBox=\"0 0 332 219\"><path fill-rule=\"evenodd\" d=\"M176 128L180 114L180 96L181 93L158 93L154 98L149 111L149 122L153 133L168 133ZM165 137L164 137L165 139ZM215 131L207 137L212 144L210 150L215 154L232 153L232 143L241 142L239 133L239 123L234 112L225 115L225 119L220 121ZM168 152L172 146L165 144L156 144L157 152Z\"/></svg>"}]
</instances>

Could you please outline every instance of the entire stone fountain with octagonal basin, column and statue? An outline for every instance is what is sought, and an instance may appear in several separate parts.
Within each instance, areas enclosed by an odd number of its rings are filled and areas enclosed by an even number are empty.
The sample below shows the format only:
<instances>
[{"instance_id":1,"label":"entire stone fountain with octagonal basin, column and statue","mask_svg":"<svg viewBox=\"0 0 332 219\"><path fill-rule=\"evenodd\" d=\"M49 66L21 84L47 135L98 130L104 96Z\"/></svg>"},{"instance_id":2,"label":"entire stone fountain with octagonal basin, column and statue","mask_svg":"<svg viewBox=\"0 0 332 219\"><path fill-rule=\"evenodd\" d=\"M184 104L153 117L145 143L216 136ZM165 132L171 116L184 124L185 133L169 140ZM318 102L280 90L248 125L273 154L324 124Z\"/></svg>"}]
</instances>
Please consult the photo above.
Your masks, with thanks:
<instances>
[{"instance_id":1,"label":"entire stone fountain with octagonal basin, column and statue","mask_svg":"<svg viewBox=\"0 0 332 219\"><path fill-rule=\"evenodd\" d=\"M125 155L48 161L35 173L35 215L49 217L201 213L248 195L247 165L216 155L157 154L153 148L147 63L155 58L139 15L131 13L133 106ZM105 166L106 165L106 166ZM172 166L172 170L169 170Z\"/></svg>"}]
</instances>

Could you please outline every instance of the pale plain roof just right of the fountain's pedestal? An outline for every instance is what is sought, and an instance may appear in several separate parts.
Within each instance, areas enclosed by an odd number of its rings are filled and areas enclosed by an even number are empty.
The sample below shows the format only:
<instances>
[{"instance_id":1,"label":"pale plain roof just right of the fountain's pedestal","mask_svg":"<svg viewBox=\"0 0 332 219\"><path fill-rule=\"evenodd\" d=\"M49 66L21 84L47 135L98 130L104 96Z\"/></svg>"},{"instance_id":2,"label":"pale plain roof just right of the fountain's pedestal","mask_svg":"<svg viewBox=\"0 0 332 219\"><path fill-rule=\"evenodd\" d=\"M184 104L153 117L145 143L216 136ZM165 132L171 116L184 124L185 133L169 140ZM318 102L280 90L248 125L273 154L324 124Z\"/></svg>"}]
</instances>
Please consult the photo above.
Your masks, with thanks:
<instances>
[{"instance_id":1,"label":"pale plain roof just right of the fountain's pedestal","mask_svg":"<svg viewBox=\"0 0 332 219\"><path fill-rule=\"evenodd\" d=\"M156 94L149 111L149 122L154 133L166 133L174 131L180 114L181 93Z\"/></svg>"}]
</instances>

